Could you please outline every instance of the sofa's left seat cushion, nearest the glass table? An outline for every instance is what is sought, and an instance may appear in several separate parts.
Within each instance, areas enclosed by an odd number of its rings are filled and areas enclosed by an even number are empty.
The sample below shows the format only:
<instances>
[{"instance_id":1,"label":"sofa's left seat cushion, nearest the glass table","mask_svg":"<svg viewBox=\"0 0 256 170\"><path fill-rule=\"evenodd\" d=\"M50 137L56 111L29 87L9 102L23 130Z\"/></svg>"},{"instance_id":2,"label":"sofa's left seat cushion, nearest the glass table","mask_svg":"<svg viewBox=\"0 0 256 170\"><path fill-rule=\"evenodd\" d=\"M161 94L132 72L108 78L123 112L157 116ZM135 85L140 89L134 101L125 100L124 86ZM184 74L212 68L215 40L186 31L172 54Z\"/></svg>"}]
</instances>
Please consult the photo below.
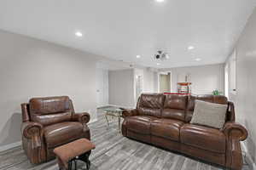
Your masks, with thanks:
<instances>
[{"instance_id":1,"label":"sofa's left seat cushion, nearest the glass table","mask_svg":"<svg viewBox=\"0 0 256 170\"><path fill-rule=\"evenodd\" d=\"M126 127L133 132L150 134L150 124L155 119L154 116L130 116L126 118Z\"/></svg>"}]
</instances>

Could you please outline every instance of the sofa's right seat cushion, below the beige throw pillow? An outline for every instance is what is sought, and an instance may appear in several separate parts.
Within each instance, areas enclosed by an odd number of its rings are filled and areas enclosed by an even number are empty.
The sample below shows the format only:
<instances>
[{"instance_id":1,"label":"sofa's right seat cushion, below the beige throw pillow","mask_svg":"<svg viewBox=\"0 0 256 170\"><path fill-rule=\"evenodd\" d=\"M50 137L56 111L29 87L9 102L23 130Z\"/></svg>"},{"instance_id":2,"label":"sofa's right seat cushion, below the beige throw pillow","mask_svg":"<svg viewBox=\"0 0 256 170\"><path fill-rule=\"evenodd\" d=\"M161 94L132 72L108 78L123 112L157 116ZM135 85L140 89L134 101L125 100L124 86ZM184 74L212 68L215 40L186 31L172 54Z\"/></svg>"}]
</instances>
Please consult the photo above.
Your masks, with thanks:
<instances>
[{"instance_id":1,"label":"sofa's right seat cushion, below the beige throw pillow","mask_svg":"<svg viewBox=\"0 0 256 170\"><path fill-rule=\"evenodd\" d=\"M180 140L183 144L202 150L225 153L225 135L216 128L185 124L180 129Z\"/></svg>"}]
</instances>

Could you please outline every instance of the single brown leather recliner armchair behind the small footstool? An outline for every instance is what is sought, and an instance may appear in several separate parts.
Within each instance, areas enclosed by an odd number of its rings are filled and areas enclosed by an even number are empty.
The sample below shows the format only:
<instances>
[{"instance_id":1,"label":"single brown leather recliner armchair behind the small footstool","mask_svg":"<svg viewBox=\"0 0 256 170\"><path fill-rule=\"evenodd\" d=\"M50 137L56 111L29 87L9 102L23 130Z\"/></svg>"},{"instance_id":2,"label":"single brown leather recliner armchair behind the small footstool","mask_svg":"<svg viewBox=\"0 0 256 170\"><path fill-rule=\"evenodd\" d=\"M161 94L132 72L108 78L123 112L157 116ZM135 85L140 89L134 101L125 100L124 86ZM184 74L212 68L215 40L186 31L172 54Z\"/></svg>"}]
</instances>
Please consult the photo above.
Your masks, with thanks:
<instances>
[{"instance_id":1,"label":"single brown leather recliner armchair behind the small footstool","mask_svg":"<svg viewBox=\"0 0 256 170\"><path fill-rule=\"evenodd\" d=\"M53 150L75 139L90 139L88 113L75 114L67 96L33 98L21 104L22 145L26 156L34 163L55 158Z\"/></svg>"}]
</instances>

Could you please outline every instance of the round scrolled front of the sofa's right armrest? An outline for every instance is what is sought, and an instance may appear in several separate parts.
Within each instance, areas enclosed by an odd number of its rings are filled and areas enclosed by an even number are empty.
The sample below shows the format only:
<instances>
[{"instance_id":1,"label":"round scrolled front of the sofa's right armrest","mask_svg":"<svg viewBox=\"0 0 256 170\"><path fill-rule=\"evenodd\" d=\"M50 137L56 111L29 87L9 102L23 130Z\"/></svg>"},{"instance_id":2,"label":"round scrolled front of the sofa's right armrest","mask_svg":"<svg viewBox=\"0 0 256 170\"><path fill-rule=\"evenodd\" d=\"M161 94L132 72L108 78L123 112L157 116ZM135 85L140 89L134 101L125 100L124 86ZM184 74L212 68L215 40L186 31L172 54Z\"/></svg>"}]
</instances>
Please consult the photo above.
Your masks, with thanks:
<instances>
[{"instance_id":1,"label":"round scrolled front of the sofa's right armrest","mask_svg":"<svg viewBox=\"0 0 256 170\"><path fill-rule=\"evenodd\" d=\"M247 139L247 129L236 122L226 122L223 132L229 139L243 141Z\"/></svg>"}]
</instances>

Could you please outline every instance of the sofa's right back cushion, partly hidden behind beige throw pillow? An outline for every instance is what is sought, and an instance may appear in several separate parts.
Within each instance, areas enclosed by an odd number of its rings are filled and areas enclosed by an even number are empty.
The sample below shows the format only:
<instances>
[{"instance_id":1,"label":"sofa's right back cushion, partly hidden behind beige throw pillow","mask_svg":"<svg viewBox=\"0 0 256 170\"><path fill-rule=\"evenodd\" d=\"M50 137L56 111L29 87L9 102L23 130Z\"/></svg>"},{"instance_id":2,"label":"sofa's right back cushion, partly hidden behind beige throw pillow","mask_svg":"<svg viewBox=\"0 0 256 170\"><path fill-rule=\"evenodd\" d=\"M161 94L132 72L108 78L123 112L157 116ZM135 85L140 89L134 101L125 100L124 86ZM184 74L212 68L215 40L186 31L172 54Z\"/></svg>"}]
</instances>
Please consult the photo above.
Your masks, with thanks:
<instances>
[{"instance_id":1,"label":"sofa's right back cushion, partly hidden behind beige throw pillow","mask_svg":"<svg viewBox=\"0 0 256 170\"><path fill-rule=\"evenodd\" d=\"M190 122L195 109L195 100L206 101L215 104L228 105L228 99L222 95L189 95L188 106L186 111L186 122Z\"/></svg>"}]
</instances>

